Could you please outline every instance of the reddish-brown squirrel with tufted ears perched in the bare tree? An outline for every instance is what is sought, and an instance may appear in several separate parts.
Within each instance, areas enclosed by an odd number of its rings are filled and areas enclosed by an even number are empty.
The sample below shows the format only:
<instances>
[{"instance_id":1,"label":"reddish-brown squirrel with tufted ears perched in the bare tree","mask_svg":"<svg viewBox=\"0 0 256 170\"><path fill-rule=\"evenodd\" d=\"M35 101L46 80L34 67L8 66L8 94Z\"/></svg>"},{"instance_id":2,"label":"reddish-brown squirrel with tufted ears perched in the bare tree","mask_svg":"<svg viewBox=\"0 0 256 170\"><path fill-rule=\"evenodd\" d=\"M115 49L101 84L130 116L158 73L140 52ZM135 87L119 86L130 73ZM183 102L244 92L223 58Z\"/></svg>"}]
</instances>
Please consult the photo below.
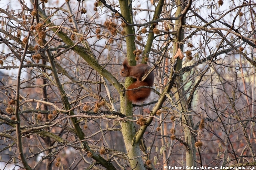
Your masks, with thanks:
<instances>
[{"instance_id":1,"label":"reddish-brown squirrel with tufted ears perched in the bare tree","mask_svg":"<svg viewBox=\"0 0 256 170\"><path fill-rule=\"evenodd\" d=\"M123 62L123 68L120 72L122 77L132 77L137 79L134 83L129 85L127 88L128 100L131 102L140 102L144 101L149 97L151 89L150 88L141 88L137 89L140 86L153 86L154 83L154 73L151 72L144 81L140 81L141 78L149 71L150 67L146 64L138 64L137 66L129 66L127 59ZM137 90L129 90L137 89Z\"/></svg>"}]
</instances>

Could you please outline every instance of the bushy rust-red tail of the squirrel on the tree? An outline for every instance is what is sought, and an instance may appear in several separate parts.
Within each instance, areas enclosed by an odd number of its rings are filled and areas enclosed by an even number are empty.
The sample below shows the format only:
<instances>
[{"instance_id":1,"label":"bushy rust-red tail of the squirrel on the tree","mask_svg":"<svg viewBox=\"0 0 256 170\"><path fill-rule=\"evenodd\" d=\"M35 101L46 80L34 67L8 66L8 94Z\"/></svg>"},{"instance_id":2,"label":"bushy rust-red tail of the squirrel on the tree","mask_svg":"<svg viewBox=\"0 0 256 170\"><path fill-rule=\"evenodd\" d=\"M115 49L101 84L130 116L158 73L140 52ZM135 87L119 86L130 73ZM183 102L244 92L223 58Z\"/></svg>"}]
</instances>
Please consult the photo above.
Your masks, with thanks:
<instances>
[{"instance_id":1,"label":"bushy rust-red tail of the squirrel on the tree","mask_svg":"<svg viewBox=\"0 0 256 170\"><path fill-rule=\"evenodd\" d=\"M133 83L129 85L127 88L127 95L128 95L128 100L136 103L136 102L141 102L144 101L146 98L149 97L151 89L150 88L140 88L137 89L140 86L149 86L147 82L140 81L139 83ZM136 90L129 90L129 89L136 89Z\"/></svg>"}]
</instances>

